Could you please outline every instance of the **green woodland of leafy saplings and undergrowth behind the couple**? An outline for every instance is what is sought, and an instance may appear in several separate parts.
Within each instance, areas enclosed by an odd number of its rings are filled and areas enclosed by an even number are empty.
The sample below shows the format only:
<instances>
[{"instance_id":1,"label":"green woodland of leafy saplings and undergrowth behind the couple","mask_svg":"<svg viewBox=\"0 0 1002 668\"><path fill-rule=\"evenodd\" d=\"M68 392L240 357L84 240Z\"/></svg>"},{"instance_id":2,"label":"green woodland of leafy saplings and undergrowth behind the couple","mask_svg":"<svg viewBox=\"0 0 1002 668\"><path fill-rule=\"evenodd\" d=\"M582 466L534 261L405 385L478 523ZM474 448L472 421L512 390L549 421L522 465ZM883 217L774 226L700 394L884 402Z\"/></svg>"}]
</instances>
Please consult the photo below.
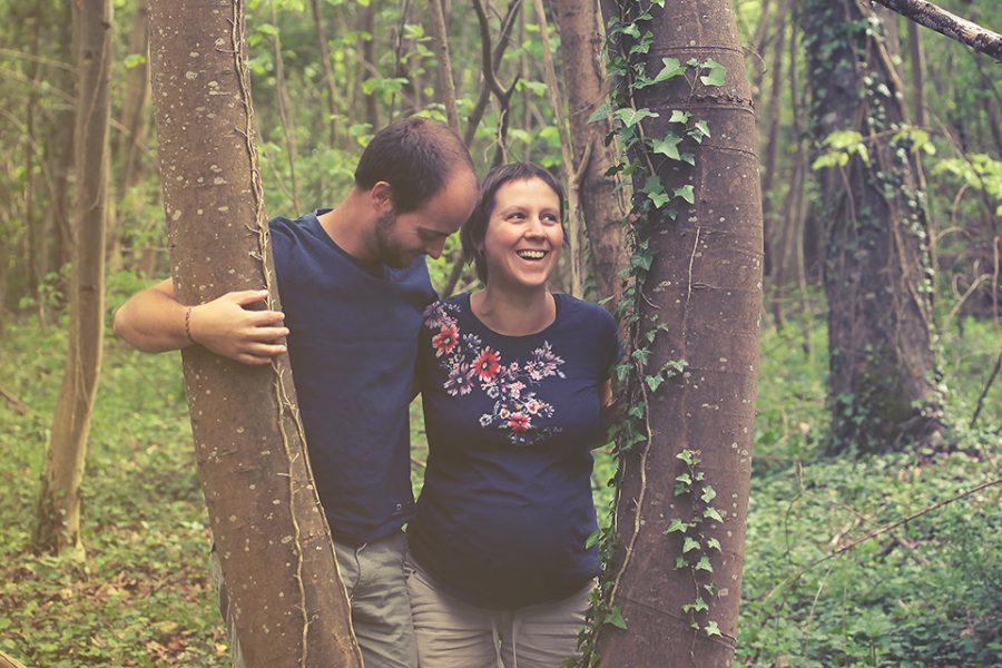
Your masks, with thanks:
<instances>
[{"instance_id":1,"label":"green woodland of leafy saplings and undergrowth behind the couple","mask_svg":"<svg viewBox=\"0 0 1002 668\"><path fill-rule=\"evenodd\" d=\"M993 2L941 4L1000 28ZM573 124L552 95L556 85L567 96L573 63L563 60L567 39L552 8L543 22L537 7L483 2L483 30L471 7L444 3L460 128L481 173L503 157L568 176L560 128ZM837 255L833 244L849 255L859 249L833 236L825 178L862 153L876 160L877 148L829 128L833 111L819 104L825 92L812 68L837 59L846 27L832 20L826 33L812 26L818 7L734 1L759 124L767 244L737 661L999 665L999 488L951 501L999 479L999 66L883 10L852 28L885 45L892 86L907 109L907 122L883 134L920 175L907 206L924 210L916 234L930 253L915 285L930 294L929 375L936 421L946 425L933 436L871 439L885 428L851 394L834 392L829 375L825 263ZM0 0L0 9L8 17L0 27L0 650L42 667L224 666L178 355L143 355L105 340L80 489L81 548L36 549L39 481L70 327L75 16L71 3L56 0ZM250 0L246 11L271 215L336 202L374 128L413 112L446 118L424 2ZM115 0L114 12L106 322L169 273L147 7ZM494 91L483 82L484 49L493 51ZM842 95L845 114L863 109L865 96ZM454 272L456 246L450 239L430 263L442 291L473 285L469 269ZM608 296L610 277L590 268L589 256L579 258L577 278L569 261L558 287ZM426 448L416 404L412 430L416 491ZM615 466L611 454L597 453L600 508L611 502Z\"/></svg>"}]
</instances>

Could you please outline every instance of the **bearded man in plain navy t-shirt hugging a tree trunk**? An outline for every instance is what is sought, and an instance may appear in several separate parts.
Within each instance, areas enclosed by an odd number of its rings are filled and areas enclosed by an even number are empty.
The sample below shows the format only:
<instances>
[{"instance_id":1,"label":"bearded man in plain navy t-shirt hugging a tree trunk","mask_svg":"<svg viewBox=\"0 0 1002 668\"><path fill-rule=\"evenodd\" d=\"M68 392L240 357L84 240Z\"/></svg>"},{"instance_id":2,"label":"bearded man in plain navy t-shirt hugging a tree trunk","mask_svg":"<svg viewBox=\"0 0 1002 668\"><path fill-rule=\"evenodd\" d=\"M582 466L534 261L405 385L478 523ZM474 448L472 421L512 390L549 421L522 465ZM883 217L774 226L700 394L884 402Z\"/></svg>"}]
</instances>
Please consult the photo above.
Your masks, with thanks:
<instances>
[{"instance_id":1,"label":"bearded man in plain navy t-shirt hugging a tree trunk","mask_svg":"<svg viewBox=\"0 0 1002 668\"><path fill-rule=\"evenodd\" d=\"M283 313L244 310L265 297L262 291L183 305L167 279L115 315L116 334L145 352L198 344L266 364L285 352L279 341L287 336L314 479L366 668L418 661L401 528L414 505L407 405L418 331L434 298L423 256L441 255L477 195L470 154L455 132L429 119L399 120L373 137L335 208L271 222ZM219 598L230 623L225 588ZM230 639L239 666L235 633Z\"/></svg>"}]
</instances>

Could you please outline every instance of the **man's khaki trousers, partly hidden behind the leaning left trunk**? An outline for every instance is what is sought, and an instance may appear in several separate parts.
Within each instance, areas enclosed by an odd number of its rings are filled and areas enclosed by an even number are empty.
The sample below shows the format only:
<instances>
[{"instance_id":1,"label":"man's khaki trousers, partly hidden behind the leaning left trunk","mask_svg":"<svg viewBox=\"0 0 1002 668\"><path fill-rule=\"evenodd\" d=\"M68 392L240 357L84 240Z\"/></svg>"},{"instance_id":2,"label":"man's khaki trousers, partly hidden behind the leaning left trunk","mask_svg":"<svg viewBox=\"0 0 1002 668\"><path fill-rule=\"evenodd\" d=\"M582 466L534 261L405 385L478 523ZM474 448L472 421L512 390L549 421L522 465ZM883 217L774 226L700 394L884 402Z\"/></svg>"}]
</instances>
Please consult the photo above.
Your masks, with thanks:
<instances>
[{"instance_id":1,"label":"man's khaki trousers, partly hidden behind the leaning left trunk","mask_svg":"<svg viewBox=\"0 0 1002 668\"><path fill-rule=\"evenodd\" d=\"M418 667L403 569L406 544L407 539L402 531L358 547L334 542L337 569L352 605L352 628L362 649L365 668ZM209 570L219 595L219 612L226 620L229 633L233 667L246 668L215 549L209 556Z\"/></svg>"}]
</instances>

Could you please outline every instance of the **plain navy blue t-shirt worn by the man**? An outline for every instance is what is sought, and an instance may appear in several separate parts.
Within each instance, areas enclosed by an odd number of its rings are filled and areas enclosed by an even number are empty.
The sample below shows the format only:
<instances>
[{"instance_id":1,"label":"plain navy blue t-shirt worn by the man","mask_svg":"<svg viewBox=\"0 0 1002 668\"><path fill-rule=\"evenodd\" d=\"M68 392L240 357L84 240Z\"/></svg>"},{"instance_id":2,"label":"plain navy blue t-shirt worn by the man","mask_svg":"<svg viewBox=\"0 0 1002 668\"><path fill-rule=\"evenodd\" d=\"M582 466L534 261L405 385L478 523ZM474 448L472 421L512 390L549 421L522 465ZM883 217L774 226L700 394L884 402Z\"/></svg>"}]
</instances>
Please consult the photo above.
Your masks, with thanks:
<instances>
[{"instance_id":1,"label":"plain navy blue t-shirt worn by the man","mask_svg":"<svg viewBox=\"0 0 1002 668\"><path fill-rule=\"evenodd\" d=\"M323 213L323 212L318 212ZM316 214L271 222L288 357L313 477L335 539L363 543L410 521L407 406L418 332L435 298L421 257L369 266Z\"/></svg>"}]
</instances>

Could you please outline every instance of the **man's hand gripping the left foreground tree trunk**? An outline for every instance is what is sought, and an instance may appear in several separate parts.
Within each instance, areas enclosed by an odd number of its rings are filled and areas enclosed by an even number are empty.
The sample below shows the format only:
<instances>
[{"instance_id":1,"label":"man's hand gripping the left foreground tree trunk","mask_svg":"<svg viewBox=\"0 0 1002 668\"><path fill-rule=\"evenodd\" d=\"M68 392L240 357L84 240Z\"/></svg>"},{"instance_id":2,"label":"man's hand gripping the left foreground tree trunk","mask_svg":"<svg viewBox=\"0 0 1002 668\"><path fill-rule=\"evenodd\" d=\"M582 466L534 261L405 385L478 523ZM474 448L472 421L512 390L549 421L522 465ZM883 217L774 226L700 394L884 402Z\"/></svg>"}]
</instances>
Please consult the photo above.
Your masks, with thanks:
<instances>
[{"instance_id":1,"label":"man's hand gripping the left foreground tree trunk","mask_svg":"<svg viewBox=\"0 0 1002 668\"><path fill-rule=\"evenodd\" d=\"M268 364L286 350L278 341L288 335L282 325L285 314L244 308L267 296L266 289L246 289L193 306L188 317L191 341L244 364Z\"/></svg>"}]
</instances>

